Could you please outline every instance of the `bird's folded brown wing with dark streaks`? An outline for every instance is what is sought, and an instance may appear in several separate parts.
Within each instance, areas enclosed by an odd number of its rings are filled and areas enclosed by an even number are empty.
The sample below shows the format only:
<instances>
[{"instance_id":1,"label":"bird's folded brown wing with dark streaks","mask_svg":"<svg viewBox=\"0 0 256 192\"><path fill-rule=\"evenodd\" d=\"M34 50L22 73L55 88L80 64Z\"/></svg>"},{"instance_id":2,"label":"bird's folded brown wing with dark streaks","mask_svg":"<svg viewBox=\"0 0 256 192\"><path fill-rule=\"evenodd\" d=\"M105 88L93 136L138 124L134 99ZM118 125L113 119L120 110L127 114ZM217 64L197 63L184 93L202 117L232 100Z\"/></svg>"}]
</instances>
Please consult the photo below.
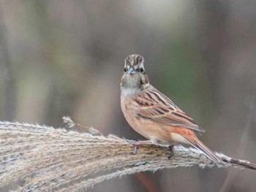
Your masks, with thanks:
<instances>
[{"instance_id":1,"label":"bird's folded brown wing with dark streaks","mask_svg":"<svg viewBox=\"0 0 256 192\"><path fill-rule=\"evenodd\" d=\"M136 115L166 126L181 126L194 131L204 132L182 110L163 93L151 87L144 90L135 101L140 105Z\"/></svg>"}]
</instances>

